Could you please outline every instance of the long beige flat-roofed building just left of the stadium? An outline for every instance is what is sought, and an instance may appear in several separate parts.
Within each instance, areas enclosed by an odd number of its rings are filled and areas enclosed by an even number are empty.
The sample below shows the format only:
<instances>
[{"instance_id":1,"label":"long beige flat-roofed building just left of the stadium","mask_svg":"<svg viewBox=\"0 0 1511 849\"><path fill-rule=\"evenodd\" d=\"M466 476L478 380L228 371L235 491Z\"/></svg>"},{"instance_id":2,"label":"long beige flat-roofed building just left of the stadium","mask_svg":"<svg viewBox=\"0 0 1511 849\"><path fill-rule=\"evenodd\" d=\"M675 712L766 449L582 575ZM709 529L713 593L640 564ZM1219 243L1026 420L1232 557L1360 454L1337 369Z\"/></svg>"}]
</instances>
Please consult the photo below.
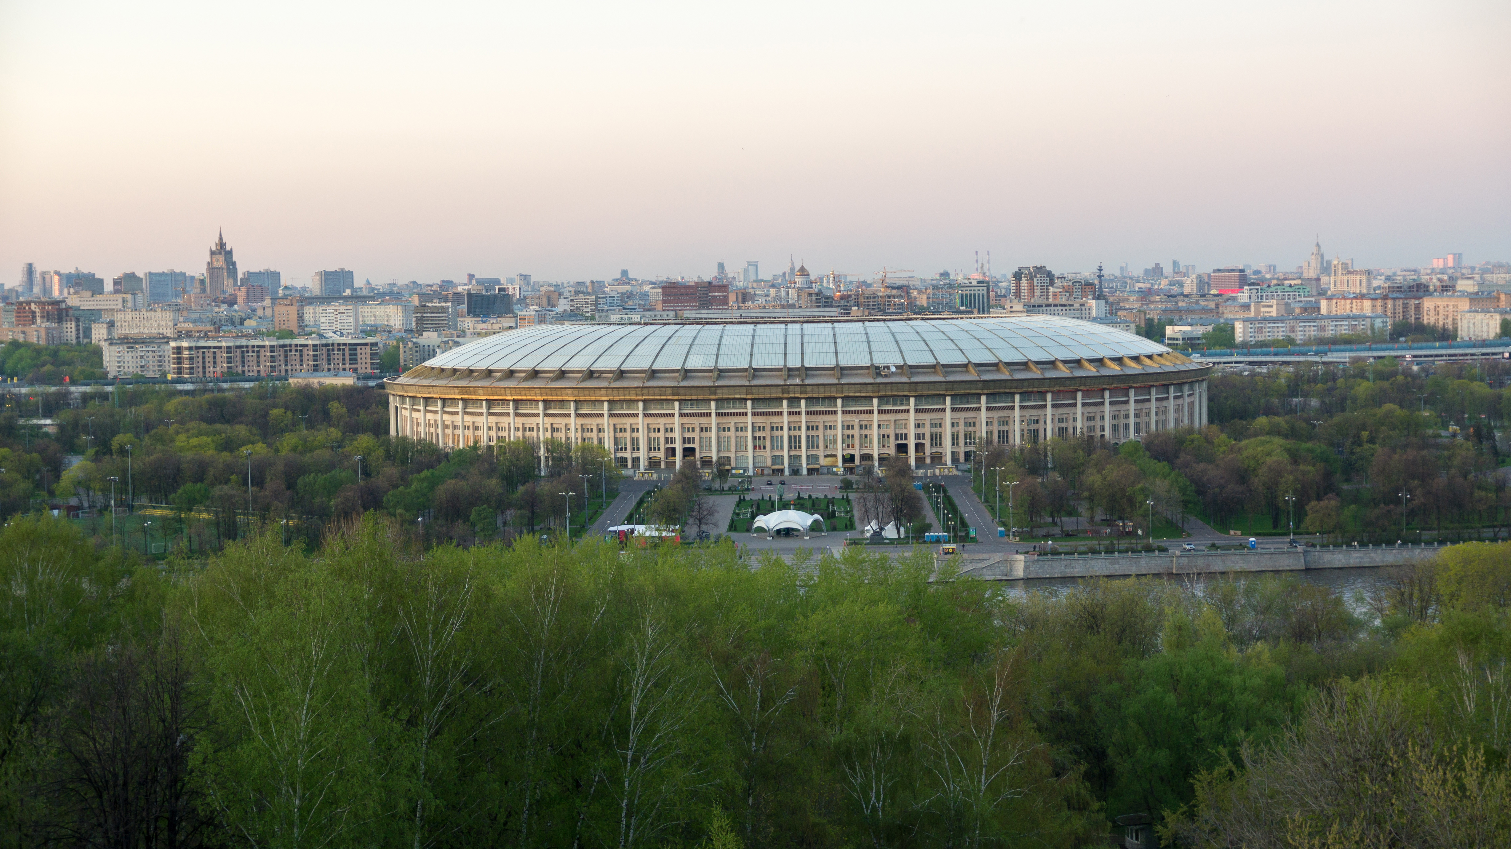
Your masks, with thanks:
<instances>
[{"instance_id":1,"label":"long beige flat-roofed building just left of the stadium","mask_svg":"<svg viewBox=\"0 0 1511 849\"><path fill-rule=\"evenodd\" d=\"M301 372L357 372L378 369L381 344L375 338L178 338L168 343L169 376L254 378Z\"/></svg>"}]
</instances>

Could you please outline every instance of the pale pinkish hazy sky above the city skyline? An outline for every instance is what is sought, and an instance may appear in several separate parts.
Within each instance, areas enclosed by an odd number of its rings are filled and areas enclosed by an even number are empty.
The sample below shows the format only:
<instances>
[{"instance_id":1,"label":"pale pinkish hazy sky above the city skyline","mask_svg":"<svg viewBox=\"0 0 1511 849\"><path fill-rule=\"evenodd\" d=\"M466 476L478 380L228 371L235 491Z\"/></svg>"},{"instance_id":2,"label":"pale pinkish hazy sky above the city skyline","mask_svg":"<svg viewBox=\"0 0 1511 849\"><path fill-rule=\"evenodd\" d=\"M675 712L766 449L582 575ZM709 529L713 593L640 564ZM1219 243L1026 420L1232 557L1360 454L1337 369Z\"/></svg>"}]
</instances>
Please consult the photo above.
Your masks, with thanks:
<instances>
[{"instance_id":1,"label":"pale pinkish hazy sky above the city skyline","mask_svg":"<svg viewBox=\"0 0 1511 849\"><path fill-rule=\"evenodd\" d=\"M1511 258L1511 3L0 0L0 282Z\"/></svg>"}]
</instances>

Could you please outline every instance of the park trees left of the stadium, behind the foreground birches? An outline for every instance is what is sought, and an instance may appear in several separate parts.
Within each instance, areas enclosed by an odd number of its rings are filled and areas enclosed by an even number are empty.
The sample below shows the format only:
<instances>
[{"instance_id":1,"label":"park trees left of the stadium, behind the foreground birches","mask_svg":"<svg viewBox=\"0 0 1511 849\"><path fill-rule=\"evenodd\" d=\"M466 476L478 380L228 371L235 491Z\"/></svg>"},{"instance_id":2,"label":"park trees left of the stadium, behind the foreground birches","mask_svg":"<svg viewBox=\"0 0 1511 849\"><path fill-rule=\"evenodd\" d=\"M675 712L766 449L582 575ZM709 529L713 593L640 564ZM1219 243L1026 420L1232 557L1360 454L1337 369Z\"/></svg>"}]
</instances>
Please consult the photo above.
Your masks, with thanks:
<instances>
[{"instance_id":1,"label":"park trees left of the stadium, behind the foreground birches","mask_svg":"<svg viewBox=\"0 0 1511 849\"><path fill-rule=\"evenodd\" d=\"M134 387L119 399L119 406L47 409L56 435L23 424L14 408L0 414L0 509L35 509L44 486L54 505L71 499L104 509L115 477L118 505L171 505L186 517L209 511L213 518L177 530L219 541L237 536L239 514L246 524L249 473L255 520L307 518L317 538L326 521L382 511L423 518L416 527L431 539L471 541L564 526L559 492L579 492L580 514L585 485L592 497L616 491L601 446L548 441L539 476L541 452L523 441L443 452L390 440L387 397L369 387L264 384L205 394ZM62 471L63 455L74 452L83 459Z\"/></svg>"}]
</instances>

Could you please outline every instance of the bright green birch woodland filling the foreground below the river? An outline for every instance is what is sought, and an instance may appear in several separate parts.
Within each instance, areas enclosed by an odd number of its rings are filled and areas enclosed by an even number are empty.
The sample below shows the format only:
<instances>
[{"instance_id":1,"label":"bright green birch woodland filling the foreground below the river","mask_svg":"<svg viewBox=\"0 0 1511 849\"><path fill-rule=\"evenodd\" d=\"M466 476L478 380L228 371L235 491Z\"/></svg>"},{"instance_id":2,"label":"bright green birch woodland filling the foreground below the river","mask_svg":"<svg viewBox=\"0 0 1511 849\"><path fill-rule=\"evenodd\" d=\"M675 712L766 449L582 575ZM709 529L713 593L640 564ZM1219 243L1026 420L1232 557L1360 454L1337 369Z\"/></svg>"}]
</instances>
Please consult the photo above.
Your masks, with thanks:
<instances>
[{"instance_id":1,"label":"bright green birch woodland filling the foreground below the river","mask_svg":"<svg viewBox=\"0 0 1511 849\"><path fill-rule=\"evenodd\" d=\"M0 844L1503 846L1511 545L1289 577L0 529Z\"/></svg>"}]
</instances>

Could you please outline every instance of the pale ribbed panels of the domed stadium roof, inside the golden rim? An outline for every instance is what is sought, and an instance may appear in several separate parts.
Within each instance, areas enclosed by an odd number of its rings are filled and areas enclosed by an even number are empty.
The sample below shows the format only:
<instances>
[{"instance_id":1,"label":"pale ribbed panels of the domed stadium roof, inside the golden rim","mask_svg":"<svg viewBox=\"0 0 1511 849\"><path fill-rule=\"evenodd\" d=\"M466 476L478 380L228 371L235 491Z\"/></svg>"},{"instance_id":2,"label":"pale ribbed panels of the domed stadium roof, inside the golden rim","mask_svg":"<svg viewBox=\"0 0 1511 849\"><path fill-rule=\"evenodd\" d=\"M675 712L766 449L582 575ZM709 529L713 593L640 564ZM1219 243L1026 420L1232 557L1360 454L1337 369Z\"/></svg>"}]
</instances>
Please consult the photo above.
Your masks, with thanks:
<instances>
[{"instance_id":1,"label":"pale ribbed panels of the domed stadium roof, inside the golden rim","mask_svg":"<svg viewBox=\"0 0 1511 849\"><path fill-rule=\"evenodd\" d=\"M710 325L542 325L447 350L431 369L642 372L1074 363L1170 349L1058 316Z\"/></svg>"}]
</instances>

